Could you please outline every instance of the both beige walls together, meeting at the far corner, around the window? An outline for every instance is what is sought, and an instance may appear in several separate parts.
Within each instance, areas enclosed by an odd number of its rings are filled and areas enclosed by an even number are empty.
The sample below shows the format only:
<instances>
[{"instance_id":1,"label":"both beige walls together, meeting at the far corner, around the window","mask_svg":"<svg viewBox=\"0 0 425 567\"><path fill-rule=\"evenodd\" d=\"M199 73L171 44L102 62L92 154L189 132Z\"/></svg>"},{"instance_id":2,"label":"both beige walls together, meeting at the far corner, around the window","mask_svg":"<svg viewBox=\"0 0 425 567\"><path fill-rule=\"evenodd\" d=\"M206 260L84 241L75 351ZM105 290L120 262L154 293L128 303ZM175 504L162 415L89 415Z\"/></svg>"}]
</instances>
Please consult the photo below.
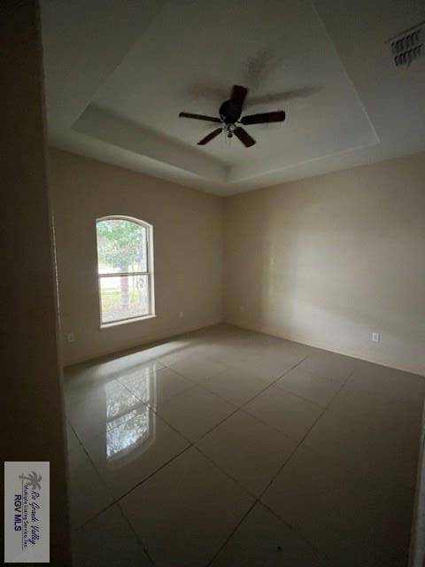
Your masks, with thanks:
<instances>
[{"instance_id":1,"label":"both beige walls together, meeting at the far corner, around the window","mask_svg":"<svg viewBox=\"0 0 425 567\"><path fill-rule=\"evenodd\" d=\"M220 199L51 151L66 364L220 322L223 298L227 322L425 374L424 157ZM154 320L99 329L106 214L154 226Z\"/></svg>"}]
</instances>

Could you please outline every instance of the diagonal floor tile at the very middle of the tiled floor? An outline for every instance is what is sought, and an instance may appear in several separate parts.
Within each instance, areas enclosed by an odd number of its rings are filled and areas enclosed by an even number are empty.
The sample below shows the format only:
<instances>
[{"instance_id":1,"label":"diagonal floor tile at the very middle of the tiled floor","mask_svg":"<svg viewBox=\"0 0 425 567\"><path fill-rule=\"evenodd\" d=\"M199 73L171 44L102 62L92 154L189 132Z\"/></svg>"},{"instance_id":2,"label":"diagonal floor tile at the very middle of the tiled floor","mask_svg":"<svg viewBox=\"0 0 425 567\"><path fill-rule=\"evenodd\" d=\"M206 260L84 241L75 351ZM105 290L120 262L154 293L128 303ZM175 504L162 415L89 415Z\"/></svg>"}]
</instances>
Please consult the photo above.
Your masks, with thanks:
<instances>
[{"instance_id":1,"label":"diagonal floor tile at the very middle of the tiled floor","mask_svg":"<svg viewBox=\"0 0 425 567\"><path fill-rule=\"evenodd\" d=\"M259 496L297 447L297 443L255 417L237 412L205 435L197 447Z\"/></svg>"}]
</instances>

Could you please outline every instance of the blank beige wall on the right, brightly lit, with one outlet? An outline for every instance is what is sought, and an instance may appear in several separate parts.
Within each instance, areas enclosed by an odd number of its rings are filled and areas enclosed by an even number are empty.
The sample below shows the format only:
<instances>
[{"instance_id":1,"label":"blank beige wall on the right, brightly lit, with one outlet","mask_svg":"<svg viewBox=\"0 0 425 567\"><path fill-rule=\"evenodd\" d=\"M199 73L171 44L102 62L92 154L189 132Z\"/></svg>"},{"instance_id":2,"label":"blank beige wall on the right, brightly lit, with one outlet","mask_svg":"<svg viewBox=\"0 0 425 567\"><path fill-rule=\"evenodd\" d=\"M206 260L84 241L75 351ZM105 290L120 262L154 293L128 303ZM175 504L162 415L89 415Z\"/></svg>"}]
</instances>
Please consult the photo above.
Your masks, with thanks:
<instances>
[{"instance_id":1,"label":"blank beige wall on the right, brightly lit, with one outlet","mask_svg":"<svg viewBox=\"0 0 425 567\"><path fill-rule=\"evenodd\" d=\"M425 374L425 154L227 198L224 214L227 322Z\"/></svg>"}]
</instances>

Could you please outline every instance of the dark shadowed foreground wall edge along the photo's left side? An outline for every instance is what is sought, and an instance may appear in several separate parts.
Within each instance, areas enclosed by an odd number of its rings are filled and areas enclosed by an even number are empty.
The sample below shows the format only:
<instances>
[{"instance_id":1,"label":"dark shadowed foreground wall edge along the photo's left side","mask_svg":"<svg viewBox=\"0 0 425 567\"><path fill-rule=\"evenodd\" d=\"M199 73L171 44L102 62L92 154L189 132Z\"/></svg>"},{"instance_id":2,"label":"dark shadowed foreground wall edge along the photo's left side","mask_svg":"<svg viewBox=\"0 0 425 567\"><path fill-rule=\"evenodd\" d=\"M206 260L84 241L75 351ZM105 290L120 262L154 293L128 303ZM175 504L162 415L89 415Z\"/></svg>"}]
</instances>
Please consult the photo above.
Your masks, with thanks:
<instances>
[{"instance_id":1,"label":"dark shadowed foreground wall edge along the photo's left side","mask_svg":"<svg viewBox=\"0 0 425 567\"><path fill-rule=\"evenodd\" d=\"M7 140L2 146L2 186L7 193L3 455L4 461L50 462L50 563L66 567L71 558L65 412L39 14L33 0L5 2L0 12L2 72L8 77L1 105Z\"/></svg>"}]
</instances>

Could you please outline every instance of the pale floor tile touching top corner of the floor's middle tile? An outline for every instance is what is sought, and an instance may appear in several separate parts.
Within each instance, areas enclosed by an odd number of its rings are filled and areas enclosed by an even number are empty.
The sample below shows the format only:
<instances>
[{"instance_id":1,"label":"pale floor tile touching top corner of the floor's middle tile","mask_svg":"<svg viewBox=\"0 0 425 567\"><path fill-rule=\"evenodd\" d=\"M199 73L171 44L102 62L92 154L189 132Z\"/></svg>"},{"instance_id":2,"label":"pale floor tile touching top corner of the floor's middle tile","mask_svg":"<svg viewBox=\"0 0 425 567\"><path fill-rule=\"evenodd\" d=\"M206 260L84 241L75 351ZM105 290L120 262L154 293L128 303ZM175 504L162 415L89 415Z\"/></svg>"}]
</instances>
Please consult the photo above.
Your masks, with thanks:
<instances>
[{"instance_id":1,"label":"pale floor tile touching top corner of the floor's middle tile","mask_svg":"<svg viewBox=\"0 0 425 567\"><path fill-rule=\"evenodd\" d=\"M208 378L202 386L237 407L251 400L259 392L267 388L264 380L259 379L249 370L229 369Z\"/></svg>"}]
</instances>

